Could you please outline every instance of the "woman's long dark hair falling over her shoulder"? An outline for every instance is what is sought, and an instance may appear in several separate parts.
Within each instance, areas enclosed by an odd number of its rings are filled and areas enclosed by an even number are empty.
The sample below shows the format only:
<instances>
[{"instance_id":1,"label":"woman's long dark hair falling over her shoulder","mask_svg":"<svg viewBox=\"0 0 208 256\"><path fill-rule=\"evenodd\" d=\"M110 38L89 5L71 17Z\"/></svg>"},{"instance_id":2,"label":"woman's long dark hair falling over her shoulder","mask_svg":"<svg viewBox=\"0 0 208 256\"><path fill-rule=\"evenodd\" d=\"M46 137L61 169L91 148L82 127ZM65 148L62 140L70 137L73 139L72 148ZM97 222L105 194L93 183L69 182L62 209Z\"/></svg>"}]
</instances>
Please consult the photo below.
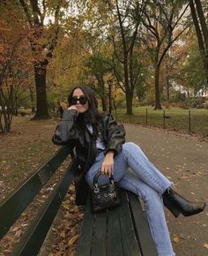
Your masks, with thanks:
<instances>
[{"instance_id":1,"label":"woman's long dark hair falling over her shoulder","mask_svg":"<svg viewBox=\"0 0 208 256\"><path fill-rule=\"evenodd\" d=\"M68 97L69 106L71 106L71 98L76 89L80 89L85 95L89 108L85 111L85 113L80 113L77 118L77 123L80 126L86 124L92 124L93 133L97 137L98 135L98 123L101 118L101 114L98 111L98 101L94 96L93 89L88 86L78 86L74 87L71 90L71 94Z\"/></svg>"}]
</instances>

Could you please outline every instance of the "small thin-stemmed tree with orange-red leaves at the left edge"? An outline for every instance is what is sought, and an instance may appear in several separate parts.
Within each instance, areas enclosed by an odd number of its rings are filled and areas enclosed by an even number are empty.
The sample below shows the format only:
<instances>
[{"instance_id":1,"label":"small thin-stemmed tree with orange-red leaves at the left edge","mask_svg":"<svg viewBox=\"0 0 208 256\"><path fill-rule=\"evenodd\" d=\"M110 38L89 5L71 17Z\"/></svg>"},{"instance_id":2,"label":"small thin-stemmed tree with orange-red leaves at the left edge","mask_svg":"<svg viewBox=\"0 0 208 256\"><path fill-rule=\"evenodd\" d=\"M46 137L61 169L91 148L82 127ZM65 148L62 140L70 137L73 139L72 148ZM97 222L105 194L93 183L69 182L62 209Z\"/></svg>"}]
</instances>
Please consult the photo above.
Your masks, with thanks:
<instances>
[{"instance_id":1,"label":"small thin-stemmed tree with orange-red leaves at the left edge","mask_svg":"<svg viewBox=\"0 0 208 256\"><path fill-rule=\"evenodd\" d=\"M31 56L26 30L13 4L0 4L0 132L10 132L19 87L26 86ZM14 33L15 31L15 33Z\"/></svg>"}]
</instances>

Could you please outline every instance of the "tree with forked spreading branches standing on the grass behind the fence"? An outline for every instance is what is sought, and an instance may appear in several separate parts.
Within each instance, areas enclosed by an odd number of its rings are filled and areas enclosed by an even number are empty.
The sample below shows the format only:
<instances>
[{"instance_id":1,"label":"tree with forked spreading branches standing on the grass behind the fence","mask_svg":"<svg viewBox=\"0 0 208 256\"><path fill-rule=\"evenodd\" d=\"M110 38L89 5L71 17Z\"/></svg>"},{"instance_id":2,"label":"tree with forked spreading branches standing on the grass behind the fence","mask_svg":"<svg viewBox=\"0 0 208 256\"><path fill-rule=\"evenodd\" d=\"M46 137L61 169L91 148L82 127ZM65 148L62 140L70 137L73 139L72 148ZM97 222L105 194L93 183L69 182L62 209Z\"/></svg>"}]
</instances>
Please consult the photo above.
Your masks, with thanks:
<instances>
[{"instance_id":1,"label":"tree with forked spreading branches standing on the grass behind the fence","mask_svg":"<svg viewBox=\"0 0 208 256\"><path fill-rule=\"evenodd\" d=\"M160 65L167 51L189 26L182 21L188 5L182 7L181 0L152 0L144 11L142 22L147 32L143 36L154 65L155 109L161 109Z\"/></svg>"}]
</instances>

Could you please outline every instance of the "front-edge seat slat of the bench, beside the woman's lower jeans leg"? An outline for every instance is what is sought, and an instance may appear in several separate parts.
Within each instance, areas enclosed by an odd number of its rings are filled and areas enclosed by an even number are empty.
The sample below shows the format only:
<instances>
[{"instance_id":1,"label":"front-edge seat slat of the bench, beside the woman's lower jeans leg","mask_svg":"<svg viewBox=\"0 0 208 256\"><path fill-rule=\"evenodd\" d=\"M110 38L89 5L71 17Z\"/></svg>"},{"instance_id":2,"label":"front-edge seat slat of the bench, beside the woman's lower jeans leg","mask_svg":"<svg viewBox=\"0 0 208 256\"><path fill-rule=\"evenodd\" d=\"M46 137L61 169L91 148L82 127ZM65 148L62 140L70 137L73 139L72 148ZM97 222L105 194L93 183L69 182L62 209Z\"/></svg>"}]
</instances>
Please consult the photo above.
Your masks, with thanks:
<instances>
[{"instance_id":1,"label":"front-edge seat slat of the bench, beside the woman's lower jeans leg","mask_svg":"<svg viewBox=\"0 0 208 256\"><path fill-rule=\"evenodd\" d=\"M152 240L151 231L141 207L140 200L133 193L128 192L130 207L135 222L137 237L143 256L158 256Z\"/></svg>"}]
</instances>

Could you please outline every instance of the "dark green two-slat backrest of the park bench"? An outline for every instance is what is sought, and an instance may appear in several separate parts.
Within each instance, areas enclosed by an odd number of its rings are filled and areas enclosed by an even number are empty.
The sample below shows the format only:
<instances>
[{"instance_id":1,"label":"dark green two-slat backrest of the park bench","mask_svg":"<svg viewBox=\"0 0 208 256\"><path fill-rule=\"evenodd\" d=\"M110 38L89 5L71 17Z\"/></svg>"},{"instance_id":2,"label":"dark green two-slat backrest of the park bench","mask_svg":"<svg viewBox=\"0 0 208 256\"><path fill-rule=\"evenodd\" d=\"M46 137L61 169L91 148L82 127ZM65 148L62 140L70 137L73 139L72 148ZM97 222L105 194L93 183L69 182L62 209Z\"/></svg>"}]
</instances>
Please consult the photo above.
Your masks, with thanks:
<instances>
[{"instance_id":1,"label":"dark green two-slat backrest of the park bench","mask_svg":"<svg viewBox=\"0 0 208 256\"><path fill-rule=\"evenodd\" d=\"M41 191L49 178L56 172L56 169L63 163L66 157L74 156L71 147L62 147L54 154L48 162L36 170L33 175L12 192L0 205L0 239L4 237L11 226L16 222L33 198ZM56 184L53 192L44 202L39 214L30 223L28 229L15 245L11 255L37 255L46 237L48 230L62 204L63 198L68 191L69 185L77 171L78 161L72 158L71 164L66 169L63 177ZM34 238L35 237L35 238Z\"/></svg>"}]
</instances>

